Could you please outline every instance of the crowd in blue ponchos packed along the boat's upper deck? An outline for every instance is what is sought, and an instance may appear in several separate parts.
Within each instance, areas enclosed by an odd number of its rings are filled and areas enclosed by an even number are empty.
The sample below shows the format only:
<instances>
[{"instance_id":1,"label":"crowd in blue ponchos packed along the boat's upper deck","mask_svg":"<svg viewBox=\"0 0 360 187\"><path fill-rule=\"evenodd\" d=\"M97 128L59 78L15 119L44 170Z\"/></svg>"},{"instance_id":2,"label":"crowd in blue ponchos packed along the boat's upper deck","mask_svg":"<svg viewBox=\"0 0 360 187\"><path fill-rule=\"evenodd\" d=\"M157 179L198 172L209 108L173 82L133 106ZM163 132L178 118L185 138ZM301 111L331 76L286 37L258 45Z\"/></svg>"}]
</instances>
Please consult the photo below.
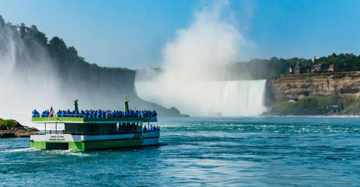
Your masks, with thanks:
<instances>
[{"instance_id":1,"label":"crowd in blue ponchos packed along the boat's upper deck","mask_svg":"<svg viewBox=\"0 0 360 187\"><path fill-rule=\"evenodd\" d=\"M48 117L50 114L49 110L43 111L41 114L35 110L32 111L32 117L33 118L45 118ZM72 118L145 118L145 117L153 117L157 116L157 113L155 110L128 110L128 111L119 111L119 110L73 110L70 111L69 109L67 111L59 110L56 113L57 117L72 117ZM50 115L50 117L53 117L53 114Z\"/></svg>"}]
</instances>

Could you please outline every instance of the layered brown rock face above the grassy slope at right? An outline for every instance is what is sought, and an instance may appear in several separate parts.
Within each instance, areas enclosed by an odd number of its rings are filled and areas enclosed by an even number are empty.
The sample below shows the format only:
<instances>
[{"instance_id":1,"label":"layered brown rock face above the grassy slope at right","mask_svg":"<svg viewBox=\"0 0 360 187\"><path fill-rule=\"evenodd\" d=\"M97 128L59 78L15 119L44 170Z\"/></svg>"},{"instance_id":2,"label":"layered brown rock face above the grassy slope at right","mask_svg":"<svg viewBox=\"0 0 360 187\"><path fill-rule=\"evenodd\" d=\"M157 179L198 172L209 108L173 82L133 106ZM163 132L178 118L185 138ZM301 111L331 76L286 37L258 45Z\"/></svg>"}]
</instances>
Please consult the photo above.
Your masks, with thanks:
<instances>
[{"instance_id":1,"label":"layered brown rock face above the grassy slope at right","mask_svg":"<svg viewBox=\"0 0 360 187\"><path fill-rule=\"evenodd\" d=\"M309 95L347 96L360 95L360 73L319 76L283 76L267 81L267 104L302 99Z\"/></svg>"}]
</instances>

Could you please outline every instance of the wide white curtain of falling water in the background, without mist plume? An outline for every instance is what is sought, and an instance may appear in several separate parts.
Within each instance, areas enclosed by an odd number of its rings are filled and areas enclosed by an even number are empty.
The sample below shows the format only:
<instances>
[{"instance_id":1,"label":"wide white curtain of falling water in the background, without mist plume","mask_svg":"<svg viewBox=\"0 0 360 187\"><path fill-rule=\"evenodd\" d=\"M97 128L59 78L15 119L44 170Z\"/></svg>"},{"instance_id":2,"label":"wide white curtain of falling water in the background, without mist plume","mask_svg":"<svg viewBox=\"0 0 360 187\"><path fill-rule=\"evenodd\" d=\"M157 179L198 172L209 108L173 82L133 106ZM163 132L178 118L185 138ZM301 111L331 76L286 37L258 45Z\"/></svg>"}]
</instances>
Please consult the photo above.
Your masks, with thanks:
<instances>
[{"instance_id":1,"label":"wide white curtain of falling water in the background, without mist plume","mask_svg":"<svg viewBox=\"0 0 360 187\"><path fill-rule=\"evenodd\" d=\"M167 84L167 85L166 85ZM265 107L266 80L211 82L135 82L142 99L181 113L202 116L208 111L226 116L258 115Z\"/></svg>"}]
</instances>

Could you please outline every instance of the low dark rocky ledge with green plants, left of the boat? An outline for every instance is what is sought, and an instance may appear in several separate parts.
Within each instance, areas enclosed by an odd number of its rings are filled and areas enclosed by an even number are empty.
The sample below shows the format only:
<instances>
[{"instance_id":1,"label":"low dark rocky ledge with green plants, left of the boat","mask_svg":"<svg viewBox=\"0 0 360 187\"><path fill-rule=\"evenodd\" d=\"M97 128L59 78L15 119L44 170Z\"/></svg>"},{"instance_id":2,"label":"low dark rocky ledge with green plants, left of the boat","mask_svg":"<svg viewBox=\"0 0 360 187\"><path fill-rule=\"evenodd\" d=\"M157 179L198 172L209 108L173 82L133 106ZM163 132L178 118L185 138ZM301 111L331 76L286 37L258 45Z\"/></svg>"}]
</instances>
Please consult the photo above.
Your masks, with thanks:
<instances>
[{"instance_id":1,"label":"low dark rocky ledge with green plants, left of the boat","mask_svg":"<svg viewBox=\"0 0 360 187\"><path fill-rule=\"evenodd\" d=\"M0 138L27 138L30 132L37 132L35 127L22 126L13 119L4 120L0 118Z\"/></svg>"}]
</instances>

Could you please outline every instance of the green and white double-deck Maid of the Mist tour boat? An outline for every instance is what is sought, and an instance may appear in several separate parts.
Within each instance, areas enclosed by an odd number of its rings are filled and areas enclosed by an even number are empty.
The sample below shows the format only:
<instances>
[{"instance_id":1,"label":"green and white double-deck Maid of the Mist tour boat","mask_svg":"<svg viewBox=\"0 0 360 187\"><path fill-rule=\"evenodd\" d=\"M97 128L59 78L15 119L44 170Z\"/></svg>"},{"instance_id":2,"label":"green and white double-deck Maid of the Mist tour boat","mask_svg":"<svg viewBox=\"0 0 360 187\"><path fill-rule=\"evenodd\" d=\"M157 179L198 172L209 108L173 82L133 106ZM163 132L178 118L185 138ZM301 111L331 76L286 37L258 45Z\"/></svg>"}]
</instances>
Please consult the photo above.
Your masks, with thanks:
<instances>
[{"instance_id":1,"label":"green and white double-deck Maid of the Mist tour boat","mask_svg":"<svg viewBox=\"0 0 360 187\"><path fill-rule=\"evenodd\" d=\"M129 110L125 96L125 111ZM77 100L75 101L77 110ZM84 118L84 116L61 117L61 115L38 116L31 123L45 124L45 132L33 132L30 135L30 147L35 149L111 149L131 146L157 145L159 131L143 131L143 126L157 122L156 115L131 116L125 118ZM63 123L64 130L57 131L57 124ZM55 131L46 131L46 124L55 127ZM118 130L117 130L118 128Z\"/></svg>"}]
</instances>

